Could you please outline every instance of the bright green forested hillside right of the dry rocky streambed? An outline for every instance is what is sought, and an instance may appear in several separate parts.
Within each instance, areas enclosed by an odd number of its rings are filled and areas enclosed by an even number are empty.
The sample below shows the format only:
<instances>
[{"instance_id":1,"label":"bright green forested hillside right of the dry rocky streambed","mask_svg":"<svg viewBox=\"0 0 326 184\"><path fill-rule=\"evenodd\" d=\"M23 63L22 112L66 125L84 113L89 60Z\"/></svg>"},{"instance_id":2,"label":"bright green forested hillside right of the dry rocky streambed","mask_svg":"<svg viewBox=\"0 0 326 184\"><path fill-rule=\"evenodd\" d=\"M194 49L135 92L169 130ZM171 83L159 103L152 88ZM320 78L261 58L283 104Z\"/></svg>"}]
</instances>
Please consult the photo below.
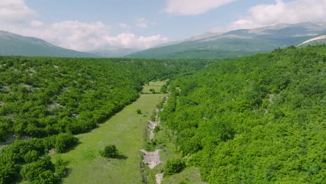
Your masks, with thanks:
<instances>
[{"instance_id":1,"label":"bright green forested hillside right of the dry rocky streambed","mask_svg":"<svg viewBox=\"0 0 326 184\"><path fill-rule=\"evenodd\" d=\"M325 183L326 46L213 64L170 84L161 119L208 183Z\"/></svg>"}]
</instances>

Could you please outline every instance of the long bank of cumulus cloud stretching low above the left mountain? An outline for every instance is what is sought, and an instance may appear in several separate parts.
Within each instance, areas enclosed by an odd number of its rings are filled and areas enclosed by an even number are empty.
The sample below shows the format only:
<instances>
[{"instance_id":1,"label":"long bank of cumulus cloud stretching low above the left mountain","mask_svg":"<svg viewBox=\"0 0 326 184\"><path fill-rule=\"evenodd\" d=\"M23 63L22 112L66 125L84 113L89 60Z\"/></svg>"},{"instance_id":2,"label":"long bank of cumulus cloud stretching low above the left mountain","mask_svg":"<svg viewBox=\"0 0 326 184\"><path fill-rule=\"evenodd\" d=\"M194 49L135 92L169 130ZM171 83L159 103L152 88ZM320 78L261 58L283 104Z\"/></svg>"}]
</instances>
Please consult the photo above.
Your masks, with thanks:
<instances>
[{"instance_id":1,"label":"long bank of cumulus cloud stretching low above the left mountain","mask_svg":"<svg viewBox=\"0 0 326 184\"><path fill-rule=\"evenodd\" d=\"M54 45L79 51L105 47L147 49L168 40L168 38L161 35L136 36L134 33L121 33L112 36L110 35L111 26L102 22L63 21L45 24L33 20L29 26L24 27L0 24L0 29L24 36L41 38Z\"/></svg>"}]
</instances>

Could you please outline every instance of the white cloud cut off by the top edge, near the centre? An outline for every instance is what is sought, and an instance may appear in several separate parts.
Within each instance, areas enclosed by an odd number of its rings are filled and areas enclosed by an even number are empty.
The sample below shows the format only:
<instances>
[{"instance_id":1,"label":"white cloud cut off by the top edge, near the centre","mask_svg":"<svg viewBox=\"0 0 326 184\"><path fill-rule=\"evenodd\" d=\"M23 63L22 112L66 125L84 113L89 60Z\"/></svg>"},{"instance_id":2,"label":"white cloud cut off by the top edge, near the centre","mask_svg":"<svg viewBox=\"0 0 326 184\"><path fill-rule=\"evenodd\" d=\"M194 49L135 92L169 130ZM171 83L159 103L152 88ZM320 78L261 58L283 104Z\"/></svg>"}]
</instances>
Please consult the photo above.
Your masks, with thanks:
<instances>
[{"instance_id":1,"label":"white cloud cut off by the top edge, near the centre","mask_svg":"<svg viewBox=\"0 0 326 184\"><path fill-rule=\"evenodd\" d=\"M164 11L173 15L199 15L235 0L167 0Z\"/></svg>"}]
</instances>

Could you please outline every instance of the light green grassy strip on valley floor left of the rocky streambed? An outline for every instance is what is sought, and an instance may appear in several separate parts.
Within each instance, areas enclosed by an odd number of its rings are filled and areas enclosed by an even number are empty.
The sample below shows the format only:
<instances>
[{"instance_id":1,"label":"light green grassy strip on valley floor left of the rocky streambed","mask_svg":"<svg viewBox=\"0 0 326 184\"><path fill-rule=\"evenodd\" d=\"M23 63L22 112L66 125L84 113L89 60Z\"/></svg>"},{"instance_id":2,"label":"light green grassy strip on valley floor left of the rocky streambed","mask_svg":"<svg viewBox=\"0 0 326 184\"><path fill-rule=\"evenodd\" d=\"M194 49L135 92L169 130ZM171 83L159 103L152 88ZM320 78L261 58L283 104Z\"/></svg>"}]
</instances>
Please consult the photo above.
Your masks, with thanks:
<instances>
[{"instance_id":1,"label":"light green grassy strip on valley floor left of the rocky streambed","mask_svg":"<svg viewBox=\"0 0 326 184\"><path fill-rule=\"evenodd\" d=\"M162 84L162 83L161 83ZM158 82L153 85L159 85ZM107 122L95 130L77 135L80 144L72 151L56 154L69 162L71 173L63 183L142 183L139 164L143 148L145 127L155 105L164 98L163 94L141 95ZM141 109L142 114L137 114ZM116 145L122 159L107 159L99 151L109 144Z\"/></svg>"}]
</instances>

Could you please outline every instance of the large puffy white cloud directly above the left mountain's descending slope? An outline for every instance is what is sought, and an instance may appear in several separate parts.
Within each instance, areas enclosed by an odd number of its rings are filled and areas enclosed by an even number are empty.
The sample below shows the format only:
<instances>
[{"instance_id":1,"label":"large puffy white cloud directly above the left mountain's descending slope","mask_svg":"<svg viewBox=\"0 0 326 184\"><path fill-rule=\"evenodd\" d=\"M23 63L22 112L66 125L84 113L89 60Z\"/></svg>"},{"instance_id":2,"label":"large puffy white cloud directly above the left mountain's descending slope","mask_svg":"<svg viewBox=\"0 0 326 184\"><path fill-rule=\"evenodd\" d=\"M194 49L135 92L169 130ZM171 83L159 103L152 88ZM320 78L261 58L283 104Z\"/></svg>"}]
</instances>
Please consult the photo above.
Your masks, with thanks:
<instances>
[{"instance_id":1,"label":"large puffy white cloud directly above the left mountain's descending slope","mask_svg":"<svg viewBox=\"0 0 326 184\"><path fill-rule=\"evenodd\" d=\"M105 36L110 26L102 22L64 21L54 24L43 24L33 21L30 27L16 30L24 36L33 36L47 40L61 47L77 50L94 49L105 45Z\"/></svg>"}]
</instances>

